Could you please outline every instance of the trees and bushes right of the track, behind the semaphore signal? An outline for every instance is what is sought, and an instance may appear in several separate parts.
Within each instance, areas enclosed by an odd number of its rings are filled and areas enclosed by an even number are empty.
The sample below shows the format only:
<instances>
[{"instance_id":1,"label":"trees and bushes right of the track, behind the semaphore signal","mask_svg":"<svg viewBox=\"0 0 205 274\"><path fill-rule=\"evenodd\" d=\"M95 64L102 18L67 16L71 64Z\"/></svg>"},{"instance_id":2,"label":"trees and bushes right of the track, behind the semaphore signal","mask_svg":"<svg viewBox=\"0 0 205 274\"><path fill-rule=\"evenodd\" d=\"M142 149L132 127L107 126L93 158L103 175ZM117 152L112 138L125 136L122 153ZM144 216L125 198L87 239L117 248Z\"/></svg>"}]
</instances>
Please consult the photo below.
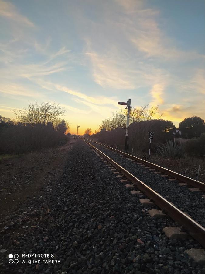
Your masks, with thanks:
<instances>
[{"instance_id":1,"label":"trees and bushes right of the track, behind the semaphore signal","mask_svg":"<svg viewBox=\"0 0 205 274\"><path fill-rule=\"evenodd\" d=\"M91 137L97 138L103 143L115 144L118 148L123 149L125 143L126 120L127 111L120 110L114 113L111 118L102 121L101 125L98 127L97 133L93 134ZM171 142L167 143L167 141L172 141L173 143L174 136L197 138L197 141L192 139L192 142L188 142L183 149L189 154L198 153L201 156L205 154L205 142L203 137L205 124L203 119L197 116L185 118L179 123L179 130L181 131L181 135L176 133L176 126L173 125L172 121L162 119L162 114L160 114L158 106L150 108L148 105L139 108L133 107L131 108L130 113L128 134L129 150L133 149L135 153L146 156L149 150L148 134L149 131L153 131L154 139L152 140L152 149L155 149L156 147L159 148L162 144L170 145ZM200 144L200 151L197 149L196 142L199 142ZM178 156L181 157L182 155L183 153L180 151Z\"/></svg>"}]
</instances>

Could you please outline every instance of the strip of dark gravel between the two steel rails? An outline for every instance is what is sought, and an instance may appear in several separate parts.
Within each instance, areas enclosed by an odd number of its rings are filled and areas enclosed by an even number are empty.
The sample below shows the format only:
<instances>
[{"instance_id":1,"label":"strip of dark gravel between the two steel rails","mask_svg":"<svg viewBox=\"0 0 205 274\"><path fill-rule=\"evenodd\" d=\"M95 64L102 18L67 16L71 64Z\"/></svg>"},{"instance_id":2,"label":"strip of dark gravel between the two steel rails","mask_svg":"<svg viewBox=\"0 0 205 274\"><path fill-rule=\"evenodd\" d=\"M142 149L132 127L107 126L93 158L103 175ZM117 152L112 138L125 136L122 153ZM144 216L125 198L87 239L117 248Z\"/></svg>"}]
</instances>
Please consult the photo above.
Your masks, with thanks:
<instances>
[{"instance_id":1,"label":"strip of dark gravel between the two steel rails","mask_svg":"<svg viewBox=\"0 0 205 274\"><path fill-rule=\"evenodd\" d=\"M154 171L149 171L144 166L122 158L120 154L114 151L94 143L92 144L205 227L205 199L202 198L203 192L193 193L186 186L179 186L178 183L180 181L178 180L169 181L168 178L170 177L161 177L161 174L155 174Z\"/></svg>"}]
</instances>

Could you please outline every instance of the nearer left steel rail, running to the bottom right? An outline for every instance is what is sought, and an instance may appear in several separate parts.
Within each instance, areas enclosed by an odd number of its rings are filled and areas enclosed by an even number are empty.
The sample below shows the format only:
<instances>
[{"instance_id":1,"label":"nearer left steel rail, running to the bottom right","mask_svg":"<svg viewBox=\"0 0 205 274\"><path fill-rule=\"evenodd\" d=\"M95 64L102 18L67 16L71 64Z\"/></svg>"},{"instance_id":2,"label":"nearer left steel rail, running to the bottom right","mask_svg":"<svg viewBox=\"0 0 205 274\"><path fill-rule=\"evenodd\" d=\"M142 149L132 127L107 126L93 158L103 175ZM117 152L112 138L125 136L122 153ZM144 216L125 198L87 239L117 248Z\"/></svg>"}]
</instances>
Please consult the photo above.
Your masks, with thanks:
<instances>
[{"instance_id":1,"label":"nearer left steel rail, running to the bottom right","mask_svg":"<svg viewBox=\"0 0 205 274\"><path fill-rule=\"evenodd\" d=\"M84 140L84 139L83 139ZM118 163L108 157L106 154L101 152L91 143L84 140L89 146L95 149L99 154L101 154L108 162L110 162L121 174L135 184L138 189L140 189L147 197L149 197L159 208L163 209L167 215L169 215L177 223L185 227L187 232L196 239L204 248L205 248L205 228L202 227L199 223L190 218L186 213L178 209L176 206L171 204L165 198L163 198L159 193L154 191L152 188L147 186L145 183L140 181L137 177L132 175L129 171L125 170Z\"/></svg>"}]
</instances>

